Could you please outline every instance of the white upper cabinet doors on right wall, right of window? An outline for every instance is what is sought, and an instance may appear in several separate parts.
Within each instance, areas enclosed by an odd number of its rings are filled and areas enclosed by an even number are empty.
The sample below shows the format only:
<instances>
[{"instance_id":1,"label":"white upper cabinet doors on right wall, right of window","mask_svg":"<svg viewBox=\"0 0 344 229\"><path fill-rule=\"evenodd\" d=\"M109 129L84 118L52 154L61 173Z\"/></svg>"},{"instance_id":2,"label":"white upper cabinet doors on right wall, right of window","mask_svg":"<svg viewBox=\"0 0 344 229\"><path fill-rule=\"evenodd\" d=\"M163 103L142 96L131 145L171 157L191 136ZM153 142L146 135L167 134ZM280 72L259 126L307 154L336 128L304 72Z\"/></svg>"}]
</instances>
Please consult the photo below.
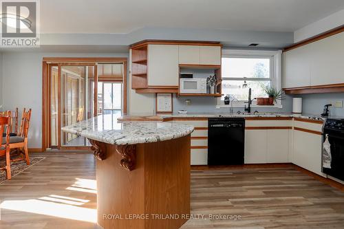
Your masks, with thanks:
<instances>
[{"instance_id":1,"label":"white upper cabinet doors on right wall, right of window","mask_svg":"<svg viewBox=\"0 0 344 229\"><path fill-rule=\"evenodd\" d=\"M344 83L344 32L284 52L284 87Z\"/></svg>"}]
</instances>

